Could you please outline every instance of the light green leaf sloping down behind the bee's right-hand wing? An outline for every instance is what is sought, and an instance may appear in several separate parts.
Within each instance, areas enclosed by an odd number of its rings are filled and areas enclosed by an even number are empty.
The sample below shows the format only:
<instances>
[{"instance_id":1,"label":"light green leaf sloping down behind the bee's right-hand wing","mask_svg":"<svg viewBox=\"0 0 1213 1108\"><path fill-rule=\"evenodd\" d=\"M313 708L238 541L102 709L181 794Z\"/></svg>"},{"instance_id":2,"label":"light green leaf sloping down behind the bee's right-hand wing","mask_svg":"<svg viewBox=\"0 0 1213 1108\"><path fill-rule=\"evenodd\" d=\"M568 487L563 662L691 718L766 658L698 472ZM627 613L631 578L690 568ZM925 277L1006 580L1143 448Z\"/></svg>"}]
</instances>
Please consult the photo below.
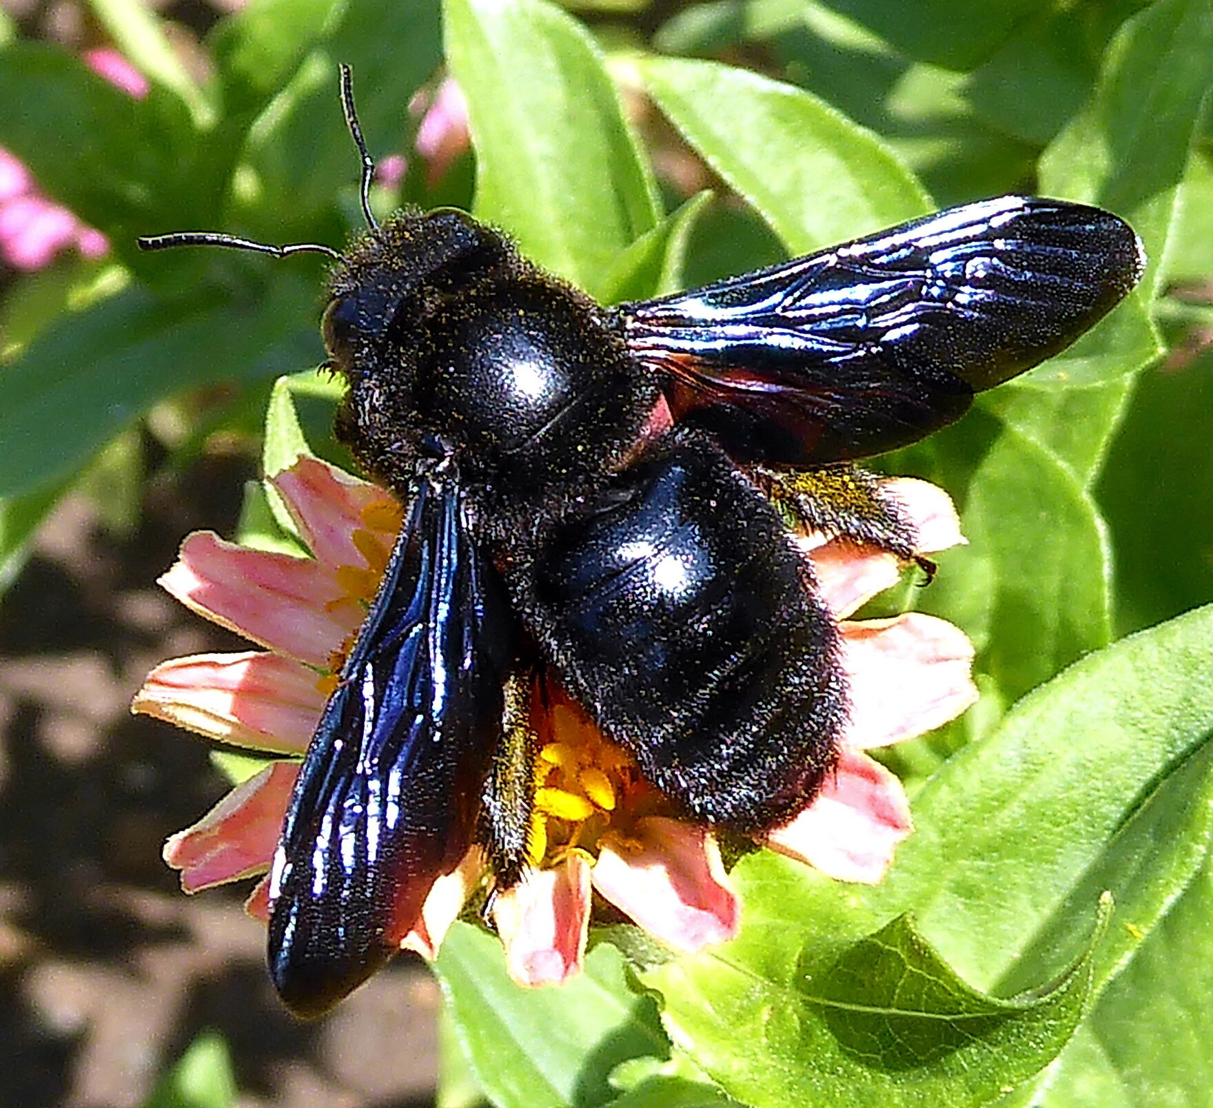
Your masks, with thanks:
<instances>
[{"instance_id":1,"label":"light green leaf sloping down behind the bee's right-hand wing","mask_svg":"<svg viewBox=\"0 0 1213 1108\"><path fill-rule=\"evenodd\" d=\"M930 209L879 138L808 92L713 62L647 58L640 74L683 137L793 253Z\"/></svg>"}]
</instances>

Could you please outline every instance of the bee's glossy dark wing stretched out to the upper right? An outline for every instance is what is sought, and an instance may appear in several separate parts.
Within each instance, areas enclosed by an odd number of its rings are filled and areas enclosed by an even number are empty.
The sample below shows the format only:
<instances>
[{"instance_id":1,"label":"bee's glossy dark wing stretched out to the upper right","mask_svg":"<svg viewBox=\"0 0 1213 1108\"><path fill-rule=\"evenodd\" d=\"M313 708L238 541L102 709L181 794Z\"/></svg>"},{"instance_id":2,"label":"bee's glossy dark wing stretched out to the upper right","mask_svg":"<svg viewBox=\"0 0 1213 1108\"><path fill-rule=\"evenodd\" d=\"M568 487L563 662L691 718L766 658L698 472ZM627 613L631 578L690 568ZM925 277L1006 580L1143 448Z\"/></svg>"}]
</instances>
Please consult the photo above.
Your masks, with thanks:
<instances>
[{"instance_id":1,"label":"bee's glossy dark wing stretched out to the upper right","mask_svg":"<svg viewBox=\"0 0 1213 1108\"><path fill-rule=\"evenodd\" d=\"M1002 196L619 310L678 418L734 457L813 464L951 423L1074 342L1143 264L1109 212Z\"/></svg>"}]
</instances>

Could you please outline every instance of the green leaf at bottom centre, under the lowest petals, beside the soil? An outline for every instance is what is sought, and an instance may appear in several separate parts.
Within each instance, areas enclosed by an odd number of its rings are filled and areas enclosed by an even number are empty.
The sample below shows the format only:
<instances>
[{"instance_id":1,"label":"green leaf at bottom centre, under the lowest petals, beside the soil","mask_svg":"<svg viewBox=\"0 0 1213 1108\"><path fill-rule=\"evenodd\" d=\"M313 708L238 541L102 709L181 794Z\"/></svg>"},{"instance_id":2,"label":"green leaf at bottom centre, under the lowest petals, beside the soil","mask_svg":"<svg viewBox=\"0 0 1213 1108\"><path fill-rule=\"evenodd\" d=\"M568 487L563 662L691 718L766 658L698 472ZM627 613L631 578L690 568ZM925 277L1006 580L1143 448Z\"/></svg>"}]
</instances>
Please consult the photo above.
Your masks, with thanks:
<instances>
[{"instance_id":1,"label":"green leaf at bottom centre, under the lowest petals, beside the soil","mask_svg":"<svg viewBox=\"0 0 1213 1108\"><path fill-rule=\"evenodd\" d=\"M608 944L559 989L523 989L506 976L497 938L456 924L435 969L477 1081L497 1108L605 1104L616 1066L670 1055L651 998L628 989Z\"/></svg>"}]
</instances>

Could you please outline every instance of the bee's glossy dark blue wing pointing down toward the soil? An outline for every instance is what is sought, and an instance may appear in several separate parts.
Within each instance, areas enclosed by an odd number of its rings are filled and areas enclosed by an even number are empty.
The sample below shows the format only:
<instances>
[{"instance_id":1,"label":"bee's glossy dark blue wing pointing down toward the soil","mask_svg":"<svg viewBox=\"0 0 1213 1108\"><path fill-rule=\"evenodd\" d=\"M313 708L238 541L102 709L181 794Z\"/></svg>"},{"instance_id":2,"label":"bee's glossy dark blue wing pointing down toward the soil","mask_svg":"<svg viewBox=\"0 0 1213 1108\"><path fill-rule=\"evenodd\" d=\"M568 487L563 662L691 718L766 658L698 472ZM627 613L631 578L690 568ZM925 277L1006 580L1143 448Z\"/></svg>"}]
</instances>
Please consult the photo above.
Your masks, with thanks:
<instances>
[{"instance_id":1,"label":"bee's glossy dark blue wing pointing down toward the soil","mask_svg":"<svg viewBox=\"0 0 1213 1108\"><path fill-rule=\"evenodd\" d=\"M421 476L300 770L270 874L269 969L296 1013L366 980L472 843L513 622L452 476Z\"/></svg>"}]
</instances>

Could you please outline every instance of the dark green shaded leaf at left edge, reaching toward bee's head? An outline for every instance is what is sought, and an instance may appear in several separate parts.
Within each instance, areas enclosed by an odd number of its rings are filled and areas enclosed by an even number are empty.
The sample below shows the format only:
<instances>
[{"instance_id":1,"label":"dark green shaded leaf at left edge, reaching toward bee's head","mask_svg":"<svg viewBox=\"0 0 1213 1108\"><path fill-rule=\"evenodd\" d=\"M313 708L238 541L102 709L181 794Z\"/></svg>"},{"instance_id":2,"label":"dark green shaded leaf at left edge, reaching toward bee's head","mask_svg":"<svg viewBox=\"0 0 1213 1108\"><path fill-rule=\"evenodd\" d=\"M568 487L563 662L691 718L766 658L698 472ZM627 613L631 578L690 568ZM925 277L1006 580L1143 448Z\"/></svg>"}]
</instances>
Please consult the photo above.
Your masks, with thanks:
<instances>
[{"instance_id":1,"label":"dark green shaded leaf at left edge, reaching toward bee's head","mask_svg":"<svg viewBox=\"0 0 1213 1108\"><path fill-rule=\"evenodd\" d=\"M172 392L319 360L298 327L313 291L274 276L258 297L209 289L175 304L129 289L40 333L4 376L0 496L61 480Z\"/></svg>"}]
</instances>

